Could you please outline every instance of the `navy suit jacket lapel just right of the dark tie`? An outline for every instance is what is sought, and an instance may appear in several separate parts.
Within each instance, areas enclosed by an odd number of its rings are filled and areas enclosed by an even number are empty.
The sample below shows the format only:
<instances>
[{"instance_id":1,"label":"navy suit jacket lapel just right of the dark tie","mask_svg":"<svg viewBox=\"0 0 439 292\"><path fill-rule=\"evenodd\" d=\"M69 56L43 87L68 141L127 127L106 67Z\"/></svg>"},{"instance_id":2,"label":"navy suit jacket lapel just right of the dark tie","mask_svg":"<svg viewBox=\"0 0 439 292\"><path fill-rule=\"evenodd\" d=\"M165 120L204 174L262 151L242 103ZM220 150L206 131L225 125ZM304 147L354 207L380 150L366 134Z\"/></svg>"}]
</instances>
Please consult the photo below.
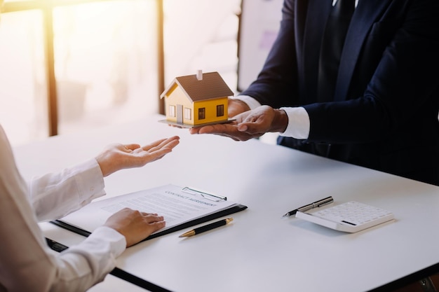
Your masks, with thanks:
<instances>
[{"instance_id":1,"label":"navy suit jacket lapel just right of the dark tie","mask_svg":"<svg viewBox=\"0 0 439 292\"><path fill-rule=\"evenodd\" d=\"M340 59L339 74L335 85L336 101L346 100L353 70L356 67L367 33L370 32L370 27L389 4L389 1L391 0L360 0L358 2L352 16L352 25L346 34L344 50Z\"/></svg>"}]
</instances>

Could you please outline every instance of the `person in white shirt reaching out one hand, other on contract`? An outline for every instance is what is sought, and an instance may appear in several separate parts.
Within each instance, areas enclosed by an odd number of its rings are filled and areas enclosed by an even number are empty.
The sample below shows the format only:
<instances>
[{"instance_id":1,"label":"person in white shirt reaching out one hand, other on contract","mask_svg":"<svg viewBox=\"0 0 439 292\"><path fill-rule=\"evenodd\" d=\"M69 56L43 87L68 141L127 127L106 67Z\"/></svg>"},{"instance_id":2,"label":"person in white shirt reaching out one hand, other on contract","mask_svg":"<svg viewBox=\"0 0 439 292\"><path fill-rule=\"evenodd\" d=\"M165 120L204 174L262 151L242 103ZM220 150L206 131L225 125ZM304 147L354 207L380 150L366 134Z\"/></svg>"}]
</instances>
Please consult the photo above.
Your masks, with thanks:
<instances>
[{"instance_id":1,"label":"person in white shirt reaching out one hand, other on contract","mask_svg":"<svg viewBox=\"0 0 439 292\"><path fill-rule=\"evenodd\" d=\"M62 172L20 176L0 126L0 291L86 291L115 267L127 246L165 226L163 216L123 209L81 244L58 253L46 244L38 221L60 218L104 195L104 176L142 167L170 153L179 137L147 146L112 144L96 158Z\"/></svg>"}]
</instances>

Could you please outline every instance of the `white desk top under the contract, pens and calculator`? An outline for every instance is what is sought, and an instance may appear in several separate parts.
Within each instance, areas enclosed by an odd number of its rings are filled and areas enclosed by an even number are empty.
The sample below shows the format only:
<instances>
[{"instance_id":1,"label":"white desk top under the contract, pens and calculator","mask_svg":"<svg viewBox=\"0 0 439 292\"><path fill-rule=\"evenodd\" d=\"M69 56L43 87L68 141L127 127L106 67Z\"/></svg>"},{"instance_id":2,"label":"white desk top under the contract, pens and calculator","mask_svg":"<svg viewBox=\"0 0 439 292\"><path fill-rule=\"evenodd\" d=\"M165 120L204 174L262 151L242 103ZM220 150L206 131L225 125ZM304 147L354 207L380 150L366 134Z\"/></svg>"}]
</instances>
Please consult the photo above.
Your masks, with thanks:
<instances>
[{"instance_id":1,"label":"white desk top under the contract, pens and calculator","mask_svg":"<svg viewBox=\"0 0 439 292\"><path fill-rule=\"evenodd\" d=\"M109 196L166 183L227 195L248 209L202 235L180 232L128 249L118 267L171 291L369 291L439 263L439 188L257 140L236 142L157 123L161 116L15 148L25 178L60 170L112 142L178 134L173 153L106 178ZM298 218L295 207L332 195L389 209L396 220L355 234ZM83 237L41 224L72 245ZM104 290L104 289L102 289ZM96 290L97 291L97 290Z\"/></svg>"}]
</instances>

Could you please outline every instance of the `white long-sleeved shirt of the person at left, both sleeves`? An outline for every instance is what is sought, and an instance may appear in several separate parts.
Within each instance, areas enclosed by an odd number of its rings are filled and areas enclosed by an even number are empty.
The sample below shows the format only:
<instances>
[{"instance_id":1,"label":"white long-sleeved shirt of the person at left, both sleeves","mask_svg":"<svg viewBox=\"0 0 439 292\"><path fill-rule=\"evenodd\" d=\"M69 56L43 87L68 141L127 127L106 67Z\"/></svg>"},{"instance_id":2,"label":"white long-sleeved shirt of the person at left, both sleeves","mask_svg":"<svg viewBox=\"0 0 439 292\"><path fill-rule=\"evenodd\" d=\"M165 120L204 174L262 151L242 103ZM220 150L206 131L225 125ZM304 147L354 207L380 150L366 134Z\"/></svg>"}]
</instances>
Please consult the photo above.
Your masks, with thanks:
<instances>
[{"instance_id":1,"label":"white long-sleeved shirt of the person at left, both sleeves","mask_svg":"<svg viewBox=\"0 0 439 292\"><path fill-rule=\"evenodd\" d=\"M81 244L58 253L46 244L37 220L69 214L104 195L96 160L58 174L22 179L0 126L0 291L86 291L116 265L126 246L116 230L100 227Z\"/></svg>"}]
</instances>

